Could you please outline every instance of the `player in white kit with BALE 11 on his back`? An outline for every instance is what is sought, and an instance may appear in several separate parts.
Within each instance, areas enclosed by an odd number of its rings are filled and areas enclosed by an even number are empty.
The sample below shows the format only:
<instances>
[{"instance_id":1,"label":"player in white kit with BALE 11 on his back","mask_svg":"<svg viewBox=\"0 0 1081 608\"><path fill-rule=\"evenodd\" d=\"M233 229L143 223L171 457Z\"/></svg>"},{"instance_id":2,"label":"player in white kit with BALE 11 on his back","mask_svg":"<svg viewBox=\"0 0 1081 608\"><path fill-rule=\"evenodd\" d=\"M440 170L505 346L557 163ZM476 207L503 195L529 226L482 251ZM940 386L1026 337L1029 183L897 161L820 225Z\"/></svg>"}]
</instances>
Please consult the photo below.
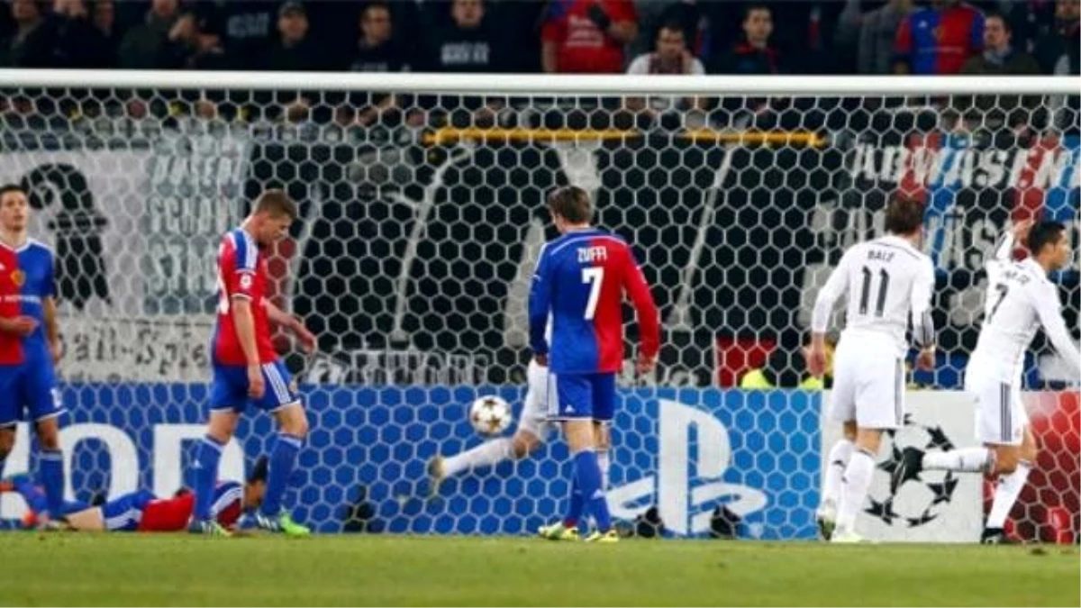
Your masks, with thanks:
<instances>
[{"instance_id":1,"label":"player in white kit with BALE 11 on his back","mask_svg":"<svg viewBox=\"0 0 1081 608\"><path fill-rule=\"evenodd\" d=\"M817 512L823 539L857 542L859 513L875 472L884 431L905 419L905 355L909 320L921 347L919 367L934 366L931 296L935 270L919 249L923 204L898 198L885 213L886 236L853 246L818 291L811 320L809 365L820 376L833 303L848 292L844 330L833 354L830 418L843 438L829 451Z\"/></svg>"}]
</instances>

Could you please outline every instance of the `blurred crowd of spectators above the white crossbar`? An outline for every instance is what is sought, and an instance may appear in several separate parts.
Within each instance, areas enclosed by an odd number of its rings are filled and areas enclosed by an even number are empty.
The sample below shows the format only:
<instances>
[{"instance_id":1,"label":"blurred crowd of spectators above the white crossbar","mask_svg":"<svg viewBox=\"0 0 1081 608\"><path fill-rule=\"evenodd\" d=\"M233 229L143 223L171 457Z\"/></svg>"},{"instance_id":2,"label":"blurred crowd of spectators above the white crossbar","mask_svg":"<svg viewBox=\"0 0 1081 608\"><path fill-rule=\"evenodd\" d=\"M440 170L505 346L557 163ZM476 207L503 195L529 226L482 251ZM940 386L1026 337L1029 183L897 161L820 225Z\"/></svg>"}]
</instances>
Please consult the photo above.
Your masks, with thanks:
<instances>
[{"instance_id":1,"label":"blurred crowd of spectators above the white crossbar","mask_svg":"<svg viewBox=\"0 0 1081 608\"><path fill-rule=\"evenodd\" d=\"M1077 74L1079 23L1078 0L10 0L0 66Z\"/></svg>"}]
</instances>

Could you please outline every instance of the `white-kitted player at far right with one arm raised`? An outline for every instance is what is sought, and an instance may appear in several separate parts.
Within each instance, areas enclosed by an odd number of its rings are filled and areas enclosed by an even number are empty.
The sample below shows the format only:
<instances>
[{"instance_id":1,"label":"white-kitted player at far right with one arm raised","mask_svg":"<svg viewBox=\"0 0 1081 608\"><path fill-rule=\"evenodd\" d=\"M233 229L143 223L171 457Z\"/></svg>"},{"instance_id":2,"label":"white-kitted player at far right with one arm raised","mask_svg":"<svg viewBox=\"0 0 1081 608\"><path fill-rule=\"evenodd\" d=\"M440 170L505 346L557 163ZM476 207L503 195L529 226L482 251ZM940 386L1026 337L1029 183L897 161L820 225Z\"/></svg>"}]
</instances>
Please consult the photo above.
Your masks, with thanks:
<instances>
[{"instance_id":1,"label":"white-kitted player at far right with one arm raised","mask_svg":"<svg viewBox=\"0 0 1081 608\"><path fill-rule=\"evenodd\" d=\"M1014 262L1014 246L1024 243L1026 235L1029 256ZM894 471L895 487L917 478L924 468L998 476L983 543L1009 542L1002 528L1036 460L1020 385L1025 351L1041 325L1058 354L1081 373L1081 353L1063 320L1058 290L1047 279L1070 256L1066 227L1057 222L1035 226L1022 222L1002 237L987 262L984 327L964 372L964 389L975 399L976 437L984 446L926 454L906 448Z\"/></svg>"}]
</instances>

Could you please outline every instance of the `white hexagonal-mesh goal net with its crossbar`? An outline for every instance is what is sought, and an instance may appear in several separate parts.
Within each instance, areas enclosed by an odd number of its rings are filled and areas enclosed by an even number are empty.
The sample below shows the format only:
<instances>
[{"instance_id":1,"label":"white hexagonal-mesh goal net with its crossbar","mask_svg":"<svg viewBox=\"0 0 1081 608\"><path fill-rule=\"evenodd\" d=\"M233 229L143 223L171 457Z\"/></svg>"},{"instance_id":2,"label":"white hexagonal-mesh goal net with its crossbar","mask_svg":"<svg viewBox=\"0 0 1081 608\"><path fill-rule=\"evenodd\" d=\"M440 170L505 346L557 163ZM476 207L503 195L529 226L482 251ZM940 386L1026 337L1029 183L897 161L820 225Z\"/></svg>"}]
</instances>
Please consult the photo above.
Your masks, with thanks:
<instances>
[{"instance_id":1,"label":"white hexagonal-mesh goal net with its crossbar","mask_svg":"<svg viewBox=\"0 0 1081 608\"><path fill-rule=\"evenodd\" d=\"M864 517L884 538L978 534L982 480L925 475L891 494L897 447L974 441L957 391L983 314L983 260L1013 221L1076 233L1081 89L1062 80L461 77L95 71L0 74L0 182L30 194L57 257L69 492L169 494L202 434L215 252L264 188L301 208L273 250L271 298L319 338L280 347L311 434L297 519L321 531L522 533L558 516L558 436L529 458L428 465L485 440L470 404L520 417L525 301L544 207L574 184L632 243L662 309L659 367L620 376L609 498L629 528L813 538L823 446L802 346L817 287L882 233L893 197L925 203L937 367L909 375ZM1076 266L1054 276L1068 325ZM636 338L630 328L629 343ZM631 351L628 351L631 353ZM629 359L629 356L628 356ZM1026 538L1079 511L1071 372L1038 342L1026 367L1037 472ZM826 388L829 379L826 380ZM517 421L516 421L517 422ZM239 478L271 421L225 457ZM504 433L508 437L513 426ZM5 475L32 464L19 428ZM0 517L24 505L0 500ZM734 516L734 517L733 517ZM963 532L969 533L969 532ZM1070 537L1072 539L1072 537Z\"/></svg>"}]
</instances>

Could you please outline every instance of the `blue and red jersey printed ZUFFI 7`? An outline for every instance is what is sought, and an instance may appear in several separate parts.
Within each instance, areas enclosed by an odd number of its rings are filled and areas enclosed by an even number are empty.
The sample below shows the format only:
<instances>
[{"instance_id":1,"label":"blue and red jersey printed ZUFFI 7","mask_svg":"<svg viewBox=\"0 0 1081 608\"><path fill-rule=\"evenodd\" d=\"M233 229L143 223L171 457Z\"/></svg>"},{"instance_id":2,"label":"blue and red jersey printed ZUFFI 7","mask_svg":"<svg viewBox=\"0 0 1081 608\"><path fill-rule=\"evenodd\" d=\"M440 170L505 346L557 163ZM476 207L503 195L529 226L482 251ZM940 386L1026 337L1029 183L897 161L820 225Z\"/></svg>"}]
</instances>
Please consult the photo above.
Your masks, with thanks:
<instances>
[{"instance_id":1,"label":"blue and red jersey printed ZUFFI 7","mask_svg":"<svg viewBox=\"0 0 1081 608\"><path fill-rule=\"evenodd\" d=\"M638 313L641 351L654 357L660 323L630 247L599 229L575 230L547 243L530 289L530 345L549 354L555 373L609 373L623 367L623 295Z\"/></svg>"}]
</instances>

